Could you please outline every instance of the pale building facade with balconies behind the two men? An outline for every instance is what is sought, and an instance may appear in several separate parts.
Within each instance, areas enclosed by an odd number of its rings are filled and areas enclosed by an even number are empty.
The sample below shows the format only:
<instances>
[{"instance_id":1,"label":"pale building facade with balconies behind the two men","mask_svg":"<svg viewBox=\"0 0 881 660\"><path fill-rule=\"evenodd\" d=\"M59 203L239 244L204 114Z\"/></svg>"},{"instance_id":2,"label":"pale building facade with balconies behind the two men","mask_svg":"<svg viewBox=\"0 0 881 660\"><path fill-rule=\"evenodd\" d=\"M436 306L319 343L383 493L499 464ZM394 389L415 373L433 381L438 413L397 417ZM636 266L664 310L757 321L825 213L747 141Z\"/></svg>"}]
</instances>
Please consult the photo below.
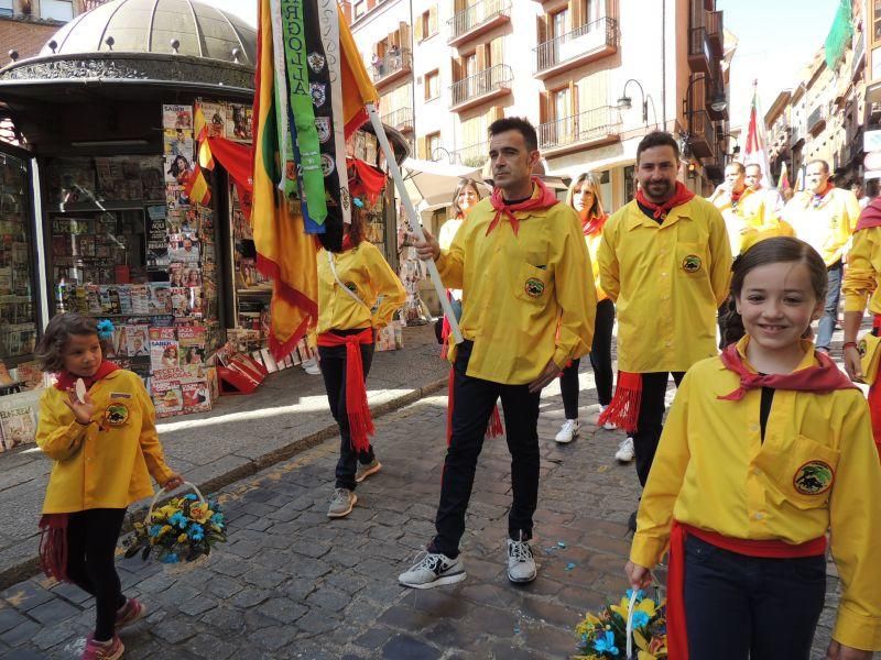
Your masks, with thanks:
<instances>
[{"instance_id":1,"label":"pale building facade with balconies behind the two men","mask_svg":"<svg viewBox=\"0 0 881 660\"><path fill-rule=\"evenodd\" d=\"M545 173L595 172L610 210L632 198L637 144L655 129L679 139L689 187L721 177L730 54L715 0L342 4L383 121L420 158L480 166L489 124L521 116Z\"/></svg>"}]
</instances>

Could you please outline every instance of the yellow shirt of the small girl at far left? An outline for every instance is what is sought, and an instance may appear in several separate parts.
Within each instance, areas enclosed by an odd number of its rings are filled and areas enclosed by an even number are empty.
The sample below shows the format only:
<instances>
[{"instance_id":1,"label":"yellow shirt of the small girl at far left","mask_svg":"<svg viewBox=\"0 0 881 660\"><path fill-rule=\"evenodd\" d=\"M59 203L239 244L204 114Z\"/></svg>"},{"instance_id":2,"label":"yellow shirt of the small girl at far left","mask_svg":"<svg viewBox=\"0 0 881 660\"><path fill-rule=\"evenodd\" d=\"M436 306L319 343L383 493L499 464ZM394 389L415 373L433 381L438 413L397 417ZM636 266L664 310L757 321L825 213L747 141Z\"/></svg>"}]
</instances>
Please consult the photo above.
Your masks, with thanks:
<instances>
[{"instance_id":1,"label":"yellow shirt of the small girl at far left","mask_svg":"<svg viewBox=\"0 0 881 660\"><path fill-rule=\"evenodd\" d=\"M47 387L40 399L36 444L55 461L43 503L44 514L91 508L123 508L153 495L150 476L165 483L153 402L130 371L108 374L91 386L93 420L83 426L64 404L66 392ZM110 421L107 415L112 413Z\"/></svg>"}]
</instances>

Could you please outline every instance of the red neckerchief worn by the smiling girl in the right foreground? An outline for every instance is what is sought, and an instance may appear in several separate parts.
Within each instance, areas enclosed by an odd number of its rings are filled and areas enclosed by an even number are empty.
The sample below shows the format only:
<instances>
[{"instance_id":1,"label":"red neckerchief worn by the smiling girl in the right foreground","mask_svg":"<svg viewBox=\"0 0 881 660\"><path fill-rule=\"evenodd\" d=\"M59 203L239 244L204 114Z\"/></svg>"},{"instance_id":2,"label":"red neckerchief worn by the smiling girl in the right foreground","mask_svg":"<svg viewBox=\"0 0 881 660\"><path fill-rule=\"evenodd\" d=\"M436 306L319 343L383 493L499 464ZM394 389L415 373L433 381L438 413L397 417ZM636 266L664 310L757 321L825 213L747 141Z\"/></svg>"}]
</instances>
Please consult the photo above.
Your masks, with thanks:
<instances>
[{"instance_id":1,"label":"red neckerchief worn by the smiling girl in the right foreground","mask_svg":"<svg viewBox=\"0 0 881 660\"><path fill-rule=\"evenodd\" d=\"M797 392L817 392L826 394L836 389L851 389L856 385L833 362L831 358L823 351L815 351L814 358L819 366L800 369L791 374L757 374L751 372L738 351L738 344L729 344L719 359L725 369L740 376L740 386L733 392L717 398L727 402L739 402L749 389L771 387L773 389L794 389Z\"/></svg>"}]
</instances>

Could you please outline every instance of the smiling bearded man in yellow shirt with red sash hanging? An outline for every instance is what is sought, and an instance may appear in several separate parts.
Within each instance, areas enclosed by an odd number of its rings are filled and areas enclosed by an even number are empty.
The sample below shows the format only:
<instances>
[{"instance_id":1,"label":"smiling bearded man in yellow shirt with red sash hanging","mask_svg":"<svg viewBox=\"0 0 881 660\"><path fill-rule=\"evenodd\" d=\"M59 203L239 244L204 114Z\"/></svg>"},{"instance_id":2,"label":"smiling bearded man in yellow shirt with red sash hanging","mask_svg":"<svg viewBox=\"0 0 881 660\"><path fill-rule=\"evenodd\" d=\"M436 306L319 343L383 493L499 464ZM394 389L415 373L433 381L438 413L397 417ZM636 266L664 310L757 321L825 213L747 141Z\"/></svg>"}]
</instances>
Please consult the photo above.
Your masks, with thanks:
<instances>
[{"instance_id":1,"label":"smiling bearded man in yellow shirt with red sash hanging","mask_svg":"<svg viewBox=\"0 0 881 660\"><path fill-rule=\"evenodd\" d=\"M606 223L600 285L618 309L618 386L598 424L633 437L645 485L663 429L670 374L678 385L716 355L716 312L728 297L731 246L719 210L676 180L679 147L655 131L637 146L637 198ZM631 516L635 528L635 514Z\"/></svg>"}]
</instances>

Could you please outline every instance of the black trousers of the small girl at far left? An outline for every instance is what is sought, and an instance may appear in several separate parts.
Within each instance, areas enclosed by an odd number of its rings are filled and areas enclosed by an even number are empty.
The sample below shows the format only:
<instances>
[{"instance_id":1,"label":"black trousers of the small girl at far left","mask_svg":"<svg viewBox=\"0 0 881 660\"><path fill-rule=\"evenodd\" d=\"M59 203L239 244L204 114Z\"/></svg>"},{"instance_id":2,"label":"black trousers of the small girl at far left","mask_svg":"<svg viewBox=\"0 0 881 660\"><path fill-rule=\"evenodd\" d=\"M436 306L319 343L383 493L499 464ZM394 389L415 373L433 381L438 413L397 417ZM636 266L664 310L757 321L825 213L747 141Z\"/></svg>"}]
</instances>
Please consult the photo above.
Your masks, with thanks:
<instances>
[{"instance_id":1,"label":"black trousers of the small girl at far left","mask_svg":"<svg viewBox=\"0 0 881 660\"><path fill-rule=\"evenodd\" d=\"M67 576L95 596L95 639L113 636L117 610L126 604L113 563L126 509L86 509L67 521Z\"/></svg>"}]
</instances>

